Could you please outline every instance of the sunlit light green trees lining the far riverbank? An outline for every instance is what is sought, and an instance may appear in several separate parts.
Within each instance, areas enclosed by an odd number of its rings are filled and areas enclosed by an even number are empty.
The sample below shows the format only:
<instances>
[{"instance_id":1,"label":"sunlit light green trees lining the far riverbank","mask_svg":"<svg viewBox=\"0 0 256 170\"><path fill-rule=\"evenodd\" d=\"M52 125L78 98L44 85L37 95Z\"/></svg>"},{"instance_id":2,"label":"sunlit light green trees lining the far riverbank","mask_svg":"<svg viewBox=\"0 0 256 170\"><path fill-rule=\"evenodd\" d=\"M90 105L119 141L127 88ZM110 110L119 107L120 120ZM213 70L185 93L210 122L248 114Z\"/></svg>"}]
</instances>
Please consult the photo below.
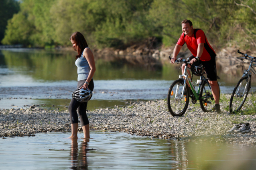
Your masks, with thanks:
<instances>
[{"instance_id":1,"label":"sunlit light green trees lining the far riverbank","mask_svg":"<svg viewBox=\"0 0 256 170\"><path fill-rule=\"evenodd\" d=\"M125 49L152 38L152 48L167 47L181 35L181 21L189 19L214 47L249 49L256 47L254 9L254 0L22 0L2 43L66 46L79 31L96 48Z\"/></svg>"}]
</instances>

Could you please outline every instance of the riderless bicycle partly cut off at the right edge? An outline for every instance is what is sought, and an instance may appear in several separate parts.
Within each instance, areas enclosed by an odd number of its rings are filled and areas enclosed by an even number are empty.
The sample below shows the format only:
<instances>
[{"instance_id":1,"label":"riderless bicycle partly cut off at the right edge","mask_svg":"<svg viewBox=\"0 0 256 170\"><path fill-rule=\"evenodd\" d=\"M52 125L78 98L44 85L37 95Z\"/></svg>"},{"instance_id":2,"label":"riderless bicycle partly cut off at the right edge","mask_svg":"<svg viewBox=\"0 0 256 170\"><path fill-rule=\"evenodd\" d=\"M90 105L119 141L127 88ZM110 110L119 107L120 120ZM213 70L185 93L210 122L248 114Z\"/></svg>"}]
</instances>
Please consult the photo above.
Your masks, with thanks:
<instances>
[{"instance_id":1,"label":"riderless bicycle partly cut off at the right edge","mask_svg":"<svg viewBox=\"0 0 256 170\"><path fill-rule=\"evenodd\" d=\"M244 70L244 73L242 75L242 78L238 81L236 87L233 90L233 93L230 97L230 113L235 113L237 111L240 111L242 109L247 95L251 89L251 77L252 77L252 72L256 75L256 71L252 66L256 66L254 63L256 63L256 57L251 57L246 53L241 53L239 50L237 51L238 53L244 55L244 58L248 61L250 61L250 65L248 70ZM244 61L246 61L244 60ZM243 63L244 63L243 61ZM253 63L254 62L254 63ZM242 63L242 69L243 69L243 63Z\"/></svg>"}]
</instances>

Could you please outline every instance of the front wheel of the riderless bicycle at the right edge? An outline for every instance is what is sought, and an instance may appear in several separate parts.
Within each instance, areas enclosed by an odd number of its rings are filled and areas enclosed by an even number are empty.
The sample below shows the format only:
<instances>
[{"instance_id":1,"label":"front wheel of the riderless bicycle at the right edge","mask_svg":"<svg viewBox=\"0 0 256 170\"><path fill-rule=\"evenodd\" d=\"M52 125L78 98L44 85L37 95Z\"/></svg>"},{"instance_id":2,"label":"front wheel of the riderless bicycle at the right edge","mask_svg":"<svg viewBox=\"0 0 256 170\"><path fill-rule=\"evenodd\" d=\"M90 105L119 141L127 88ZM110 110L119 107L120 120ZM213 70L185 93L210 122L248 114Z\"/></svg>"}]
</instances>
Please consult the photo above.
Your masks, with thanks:
<instances>
[{"instance_id":1,"label":"front wheel of the riderless bicycle at the right edge","mask_svg":"<svg viewBox=\"0 0 256 170\"><path fill-rule=\"evenodd\" d=\"M234 111L239 111L246 101L246 97L250 90L250 78L242 77L233 90L233 93L230 98L230 113L234 113Z\"/></svg>"}]
</instances>

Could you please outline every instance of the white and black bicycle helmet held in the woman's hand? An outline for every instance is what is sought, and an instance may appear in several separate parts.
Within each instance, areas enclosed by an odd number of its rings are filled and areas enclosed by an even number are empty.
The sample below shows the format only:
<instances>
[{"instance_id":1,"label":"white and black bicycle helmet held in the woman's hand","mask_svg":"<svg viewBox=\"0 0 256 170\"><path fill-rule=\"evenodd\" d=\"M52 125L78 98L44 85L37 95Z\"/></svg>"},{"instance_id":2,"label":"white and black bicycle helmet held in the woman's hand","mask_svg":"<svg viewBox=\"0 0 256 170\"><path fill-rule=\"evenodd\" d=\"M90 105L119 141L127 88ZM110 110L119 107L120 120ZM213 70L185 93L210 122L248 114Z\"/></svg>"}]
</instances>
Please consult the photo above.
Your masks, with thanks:
<instances>
[{"instance_id":1,"label":"white and black bicycle helmet held in the woman's hand","mask_svg":"<svg viewBox=\"0 0 256 170\"><path fill-rule=\"evenodd\" d=\"M76 89L72 94L73 99L83 103L87 102L91 99L92 93L91 90L88 89Z\"/></svg>"}]
</instances>

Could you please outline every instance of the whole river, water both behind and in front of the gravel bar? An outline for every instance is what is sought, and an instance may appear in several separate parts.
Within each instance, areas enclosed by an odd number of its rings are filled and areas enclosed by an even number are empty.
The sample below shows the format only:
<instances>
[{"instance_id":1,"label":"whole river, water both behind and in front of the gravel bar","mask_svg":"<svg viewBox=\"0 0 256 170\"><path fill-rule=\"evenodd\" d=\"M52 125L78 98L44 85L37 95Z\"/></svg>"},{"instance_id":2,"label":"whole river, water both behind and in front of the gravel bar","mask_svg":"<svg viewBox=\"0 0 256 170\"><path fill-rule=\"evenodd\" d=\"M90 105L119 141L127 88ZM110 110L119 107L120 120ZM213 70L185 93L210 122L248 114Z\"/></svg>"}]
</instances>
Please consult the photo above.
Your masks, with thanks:
<instances>
[{"instance_id":1,"label":"whole river, water both behind and in front of the gravel bar","mask_svg":"<svg viewBox=\"0 0 256 170\"><path fill-rule=\"evenodd\" d=\"M0 108L67 109L77 85L75 52L42 49L0 51ZM161 61L95 56L95 90L88 109L165 99L178 69ZM231 93L240 75L219 74L221 93ZM196 79L196 78L195 78ZM254 84L253 84L254 85ZM252 90L255 90L252 87ZM14 169L254 169L254 145L202 140L163 140L123 132L91 131L91 139L69 140L70 132L0 139L0 164ZM91 150L94 149L94 150ZM1 168L0 168L1 169Z\"/></svg>"}]
</instances>

